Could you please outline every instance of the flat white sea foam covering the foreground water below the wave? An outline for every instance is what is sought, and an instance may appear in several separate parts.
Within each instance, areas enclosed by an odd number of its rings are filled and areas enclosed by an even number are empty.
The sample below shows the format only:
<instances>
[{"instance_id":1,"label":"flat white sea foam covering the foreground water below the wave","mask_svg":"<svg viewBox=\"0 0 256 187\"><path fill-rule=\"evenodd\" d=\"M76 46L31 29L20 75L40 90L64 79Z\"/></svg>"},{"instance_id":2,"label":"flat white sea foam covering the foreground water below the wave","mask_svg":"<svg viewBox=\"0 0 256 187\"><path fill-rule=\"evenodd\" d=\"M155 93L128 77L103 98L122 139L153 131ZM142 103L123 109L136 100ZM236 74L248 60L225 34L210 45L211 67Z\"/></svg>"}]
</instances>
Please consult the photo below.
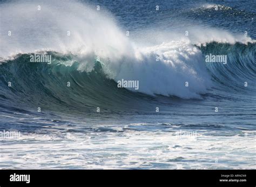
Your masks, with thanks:
<instances>
[{"instance_id":1,"label":"flat white sea foam covering the foreground water below the wave","mask_svg":"<svg viewBox=\"0 0 256 187\"><path fill-rule=\"evenodd\" d=\"M255 132L245 137L197 131L196 140L177 139L176 132L27 133L16 141L4 140L0 168L255 169Z\"/></svg>"}]
</instances>

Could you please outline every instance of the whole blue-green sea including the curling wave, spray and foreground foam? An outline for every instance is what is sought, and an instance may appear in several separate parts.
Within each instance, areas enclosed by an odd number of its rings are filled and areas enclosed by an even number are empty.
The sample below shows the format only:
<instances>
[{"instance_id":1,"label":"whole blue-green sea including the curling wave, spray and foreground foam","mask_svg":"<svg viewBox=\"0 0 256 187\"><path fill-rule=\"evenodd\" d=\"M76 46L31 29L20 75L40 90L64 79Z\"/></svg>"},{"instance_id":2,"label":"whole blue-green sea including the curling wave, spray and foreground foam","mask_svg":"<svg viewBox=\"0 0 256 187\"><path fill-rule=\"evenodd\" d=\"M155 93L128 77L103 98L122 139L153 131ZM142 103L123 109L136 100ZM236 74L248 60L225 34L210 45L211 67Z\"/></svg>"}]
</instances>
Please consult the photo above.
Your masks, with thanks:
<instances>
[{"instance_id":1,"label":"whole blue-green sea including the curling wave, spray and foreground foam","mask_svg":"<svg viewBox=\"0 0 256 187\"><path fill-rule=\"evenodd\" d=\"M1 1L0 167L255 169L255 4Z\"/></svg>"}]
</instances>

